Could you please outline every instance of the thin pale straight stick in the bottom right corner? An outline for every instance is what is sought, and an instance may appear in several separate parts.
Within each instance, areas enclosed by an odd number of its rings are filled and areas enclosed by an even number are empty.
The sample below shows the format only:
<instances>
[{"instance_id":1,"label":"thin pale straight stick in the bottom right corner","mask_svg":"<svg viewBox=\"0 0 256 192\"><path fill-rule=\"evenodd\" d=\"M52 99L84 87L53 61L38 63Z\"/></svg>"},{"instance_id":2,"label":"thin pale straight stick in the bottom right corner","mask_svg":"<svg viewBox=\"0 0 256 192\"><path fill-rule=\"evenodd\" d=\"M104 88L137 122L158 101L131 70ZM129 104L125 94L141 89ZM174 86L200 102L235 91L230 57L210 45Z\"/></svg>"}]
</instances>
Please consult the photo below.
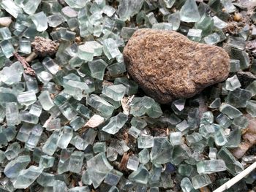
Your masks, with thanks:
<instances>
[{"instance_id":1,"label":"thin pale straight stick in the bottom right corner","mask_svg":"<svg viewBox=\"0 0 256 192\"><path fill-rule=\"evenodd\" d=\"M256 169L256 162L254 164L251 164L246 169L244 169L243 172L236 175L236 177L233 177L231 180L227 181L223 185L221 185L219 188L217 188L214 192L222 192L227 190L228 188L231 188L234 184L238 183L239 180L246 177L247 174L252 172L254 169Z\"/></svg>"}]
</instances>

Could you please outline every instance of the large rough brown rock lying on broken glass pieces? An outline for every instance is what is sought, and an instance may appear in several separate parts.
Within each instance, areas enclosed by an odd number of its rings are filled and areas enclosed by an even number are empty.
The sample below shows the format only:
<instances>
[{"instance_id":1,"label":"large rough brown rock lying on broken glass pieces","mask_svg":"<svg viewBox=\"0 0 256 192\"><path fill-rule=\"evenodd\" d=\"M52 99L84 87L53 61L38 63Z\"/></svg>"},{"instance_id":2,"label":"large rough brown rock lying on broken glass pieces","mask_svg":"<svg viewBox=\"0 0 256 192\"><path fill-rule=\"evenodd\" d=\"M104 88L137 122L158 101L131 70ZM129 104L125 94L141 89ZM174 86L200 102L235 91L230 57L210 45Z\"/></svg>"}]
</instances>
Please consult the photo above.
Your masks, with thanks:
<instances>
[{"instance_id":1,"label":"large rough brown rock lying on broken glass pieces","mask_svg":"<svg viewBox=\"0 0 256 192\"><path fill-rule=\"evenodd\" d=\"M194 96L225 80L230 70L222 48L156 29L135 31L124 47L124 61L132 78L162 104Z\"/></svg>"}]
</instances>

